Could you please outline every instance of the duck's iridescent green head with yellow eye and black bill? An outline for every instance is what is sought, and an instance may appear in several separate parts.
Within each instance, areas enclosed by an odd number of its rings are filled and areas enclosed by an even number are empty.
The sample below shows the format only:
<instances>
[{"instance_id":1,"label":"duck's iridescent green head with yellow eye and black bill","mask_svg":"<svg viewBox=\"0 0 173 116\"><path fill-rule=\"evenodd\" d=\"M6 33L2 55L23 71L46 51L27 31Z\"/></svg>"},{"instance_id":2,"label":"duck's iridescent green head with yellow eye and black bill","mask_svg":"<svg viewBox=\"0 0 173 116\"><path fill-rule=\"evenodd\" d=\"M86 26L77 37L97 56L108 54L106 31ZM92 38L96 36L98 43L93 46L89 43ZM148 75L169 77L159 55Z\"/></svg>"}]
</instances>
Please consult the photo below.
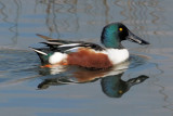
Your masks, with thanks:
<instances>
[{"instance_id":1,"label":"duck's iridescent green head with yellow eye and black bill","mask_svg":"<svg viewBox=\"0 0 173 116\"><path fill-rule=\"evenodd\" d=\"M121 49L122 40L131 40L139 44L149 44L149 42L132 34L121 23L112 23L104 27L101 41L106 48Z\"/></svg>"}]
</instances>

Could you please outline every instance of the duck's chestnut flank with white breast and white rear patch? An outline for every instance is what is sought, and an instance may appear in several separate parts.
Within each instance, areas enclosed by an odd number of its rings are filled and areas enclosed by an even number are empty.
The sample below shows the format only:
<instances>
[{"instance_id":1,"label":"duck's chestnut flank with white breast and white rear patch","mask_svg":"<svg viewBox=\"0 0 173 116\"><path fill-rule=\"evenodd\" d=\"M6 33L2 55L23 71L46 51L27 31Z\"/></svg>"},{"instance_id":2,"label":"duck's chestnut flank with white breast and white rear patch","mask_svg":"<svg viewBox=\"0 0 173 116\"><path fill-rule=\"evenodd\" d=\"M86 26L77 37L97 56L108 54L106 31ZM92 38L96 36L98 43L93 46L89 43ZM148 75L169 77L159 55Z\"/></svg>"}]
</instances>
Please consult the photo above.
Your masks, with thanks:
<instances>
[{"instance_id":1,"label":"duck's chestnut flank with white breast and white rear patch","mask_svg":"<svg viewBox=\"0 0 173 116\"><path fill-rule=\"evenodd\" d=\"M95 51L93 49L80 48L77 52L55 52L49 57L50 64L78 65L89 68L108 68L129 59L127 49L106 49Z\"/></svg>"}]
</instances>

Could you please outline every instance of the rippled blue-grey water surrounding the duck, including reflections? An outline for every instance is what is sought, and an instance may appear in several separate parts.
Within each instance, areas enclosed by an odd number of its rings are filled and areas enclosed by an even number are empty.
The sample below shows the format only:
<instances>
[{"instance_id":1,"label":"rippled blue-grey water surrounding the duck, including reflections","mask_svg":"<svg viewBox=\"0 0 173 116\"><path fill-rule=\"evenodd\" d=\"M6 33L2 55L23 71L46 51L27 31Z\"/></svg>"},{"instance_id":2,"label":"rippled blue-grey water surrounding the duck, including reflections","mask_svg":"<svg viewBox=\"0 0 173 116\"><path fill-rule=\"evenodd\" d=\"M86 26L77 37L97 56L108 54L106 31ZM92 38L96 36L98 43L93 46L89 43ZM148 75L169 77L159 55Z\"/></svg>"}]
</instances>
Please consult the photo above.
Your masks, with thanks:
<instances>
[{"instance_id":1,"label":"rippled blue-grey water surrounding the duck, including reflections","mask_svg":"<svg viewBox=\"0 0 173 116\"><path fill-rule=\"evenodd\" d=\"M171 0L1 0L1 116L172 116ZM40 68L36 34L99 43L103 26L124 23L149 41L123 46L130 61L110 70Z\"/></svg>"}]
</instances>

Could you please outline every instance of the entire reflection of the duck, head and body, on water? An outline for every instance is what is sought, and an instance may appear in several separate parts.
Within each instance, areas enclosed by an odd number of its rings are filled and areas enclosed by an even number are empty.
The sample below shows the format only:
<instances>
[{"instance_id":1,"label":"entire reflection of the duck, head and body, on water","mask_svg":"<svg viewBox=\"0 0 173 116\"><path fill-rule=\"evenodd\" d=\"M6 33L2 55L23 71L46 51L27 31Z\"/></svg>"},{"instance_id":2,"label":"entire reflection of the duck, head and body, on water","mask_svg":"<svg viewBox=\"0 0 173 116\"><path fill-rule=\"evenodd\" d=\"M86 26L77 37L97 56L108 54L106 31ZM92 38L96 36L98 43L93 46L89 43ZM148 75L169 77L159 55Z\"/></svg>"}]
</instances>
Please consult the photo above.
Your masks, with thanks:
<instances>
[{"instance_id":1,"label":"entire reflection of the duck, head and body, on water","mask_svg":"<svg viewBox=\"0 0 173 116\"><path fill-rule=\"evenodd\" d=\"M56 69L49 69L48 78L45 78L41 83L39 83L39 89L46 89L50 86L61 86L61 85L70 85L70 83L83 83L83 82L92 82L101 79L101 86L105 94L111 98L119 98L124 92L127 92L130 87L143 82L147 79L147 76L138 76L136 78L129 79L128 81L121 80L121 76L129 67L129 62L124 62L120 65L111 69L104 69L104 70L89 70L85 68L77 68L71 67L74 72L67 69L63 73L59 73ZM46 70L48 72L48 70ZM46 74L45 70L41 72L41 74Z\"/></svg>"}]
</instances>

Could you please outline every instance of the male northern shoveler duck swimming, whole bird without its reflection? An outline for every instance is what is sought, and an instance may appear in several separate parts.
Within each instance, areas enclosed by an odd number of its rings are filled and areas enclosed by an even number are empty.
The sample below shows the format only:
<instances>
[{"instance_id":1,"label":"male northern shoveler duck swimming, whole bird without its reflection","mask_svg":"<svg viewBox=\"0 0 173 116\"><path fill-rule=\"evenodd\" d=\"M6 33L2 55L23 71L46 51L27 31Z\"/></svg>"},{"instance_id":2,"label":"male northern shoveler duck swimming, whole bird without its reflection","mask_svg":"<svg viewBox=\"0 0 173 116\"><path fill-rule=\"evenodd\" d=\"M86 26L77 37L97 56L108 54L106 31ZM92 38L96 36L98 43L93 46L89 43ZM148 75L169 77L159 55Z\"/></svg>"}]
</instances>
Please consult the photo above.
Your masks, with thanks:
<instances>
[{"instance_id":1,"label":"male northern shoveler duck swimming, whole bird without its reflection","mask_svg":"<svg viewBox=\"0 0 173 116\"><path fill-rule=\"evenodd\" d=\"M38 53L43 67L57 65L78 65L88 68L109 68L129 59L129 51L121 41L131 40L139 44L149 44L131 33L121 23L111 23L103 28L101 47L92 42L67 41L38 35L46 42L46 48L31 48Z\"/></svg>"}]
</instances>

